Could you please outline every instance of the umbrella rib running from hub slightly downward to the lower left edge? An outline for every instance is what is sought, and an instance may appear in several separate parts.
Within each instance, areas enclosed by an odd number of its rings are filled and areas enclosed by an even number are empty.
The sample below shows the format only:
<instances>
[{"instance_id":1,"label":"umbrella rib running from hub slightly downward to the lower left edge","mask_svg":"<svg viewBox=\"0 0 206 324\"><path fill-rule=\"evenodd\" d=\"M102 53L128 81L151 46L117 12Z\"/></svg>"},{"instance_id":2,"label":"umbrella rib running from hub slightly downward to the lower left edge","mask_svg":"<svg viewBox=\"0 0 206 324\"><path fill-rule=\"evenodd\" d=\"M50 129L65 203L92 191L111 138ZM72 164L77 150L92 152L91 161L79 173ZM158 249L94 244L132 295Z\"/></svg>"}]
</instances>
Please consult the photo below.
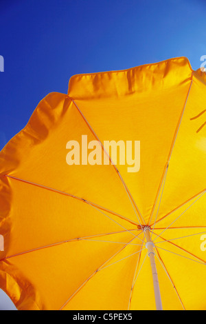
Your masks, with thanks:
<instances>
[{"instance_id":1,"label":"umbrella rib running from hub slightly downward to the lower left edge","mask_svg":"<svg viewBox=\"0 0 206 324\"><path fill-rule=\"evenodd\" d=\"M135 229L135 230L131 230L131 231L137 231L137 230ZM41 247L36 247L35 249L32 249L32 250L27 250L27 251L24 251L24 252L19 252L19 253L16 253L16 254L12 254L10 256L5 256L5 258L1 259L0 262L4 261L6 259L14 258L15 256L21 256L23 254L35 252L35 251L38 251L38 250L43 250L43 249L46 249L48 247L54 247L56 245L61 245L61 244L64 244L64 243L82 241L82 240L84 240L84 239L86 240L87 238L90 238L90 237L101 237L101 236L106 236L106 235L111 235L111 234L119 234L119 233L123 233L123 232L127 232L127 231L125 230L125 231L119 231L119 232L110 232L110 233L103 233L103 234L95 234L95 235L91 235L91 236L83 236L83 237L78 237L78 238L75 238L75 239L70 239L70 240L61 241L61 242L57 242L57 243L52 243L52 244L49 244L49 245L43 245ZM141 234L141 233L139 233L139 234ZM127 243L127 244L130 244L130 243Z\"/></svg>"}]
</instances>

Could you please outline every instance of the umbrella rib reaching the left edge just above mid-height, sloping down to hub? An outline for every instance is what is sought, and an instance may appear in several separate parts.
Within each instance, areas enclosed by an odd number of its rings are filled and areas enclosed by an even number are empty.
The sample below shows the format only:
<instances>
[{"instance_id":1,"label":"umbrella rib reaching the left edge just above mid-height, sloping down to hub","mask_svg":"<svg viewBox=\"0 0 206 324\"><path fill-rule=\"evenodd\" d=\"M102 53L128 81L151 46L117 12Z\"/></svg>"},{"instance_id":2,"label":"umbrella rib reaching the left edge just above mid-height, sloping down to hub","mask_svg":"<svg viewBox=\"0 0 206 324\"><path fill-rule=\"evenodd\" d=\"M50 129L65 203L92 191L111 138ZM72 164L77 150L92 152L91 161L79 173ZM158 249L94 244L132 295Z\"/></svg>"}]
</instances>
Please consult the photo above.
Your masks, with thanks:
<instances>
[{"instance_id":1,"label":"umbrella rib reaching the left edge just above mid-height, sloping down to hub","mask_svg":"<svg viewBox=\"0 0 206 324\"><path fill-rule=\"evenodd\" d=\"M112 210L108 210L106 207L102 207L96 203L92 203L91 201L86 201L85 199L83 198L80 198L78 196L74 196L73 194L68 194L67 192L63 192L63 191L60 191L60 190L57 190L57 189L54 189L54 188L50 188L50 187L47 187L45 185L40 185L39 183L34 183L32 181L27 181L27 180L24 180L24 179L21 179L21 178L17 178L16 176L10 176L8 174L5 174L5 176L7 176L8 178L10 179L14 179L16 181L21 181L23 183L27 183L29 185L35 185L36 187L38 188L41 188L41 189L45 189L45 190L49 190L49 191L52 191L52 192L55 192L56 194L62 194L63 196L69 196L70 198L73 198L73 199L77 199L78 201L81 201L82 203L87 203L87 204L90 204L92 207L96 207L100 210L104 210L105 212L108 212L110 214L113 214L117 217L119 217L120 219L124 219L124 221L128 221L128 223L131 223L133 225L137 225L137 223L133 222L133 221L130 221L130 219L127 219L125 216L122 216L120 214L117 214L116 212L113 212Z\"/></svg>"}]
</instances>

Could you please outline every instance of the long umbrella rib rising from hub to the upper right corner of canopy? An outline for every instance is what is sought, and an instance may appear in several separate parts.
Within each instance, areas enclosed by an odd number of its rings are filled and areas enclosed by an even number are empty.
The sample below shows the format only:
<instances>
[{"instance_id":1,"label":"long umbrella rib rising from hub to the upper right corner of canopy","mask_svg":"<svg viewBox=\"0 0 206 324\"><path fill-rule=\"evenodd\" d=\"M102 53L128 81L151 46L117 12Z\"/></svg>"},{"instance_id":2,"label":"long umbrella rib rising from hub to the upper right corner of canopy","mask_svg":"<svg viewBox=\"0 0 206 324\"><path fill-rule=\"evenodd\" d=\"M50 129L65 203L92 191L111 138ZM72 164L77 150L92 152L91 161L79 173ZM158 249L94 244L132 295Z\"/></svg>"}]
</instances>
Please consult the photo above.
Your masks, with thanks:
<instances>
[{"instance_id":1,"label":"long umbrella rib rising from hub to the upper right corner of canopy","mask_svg":"<svg viewBox=\"0 0 206 324\"><path fill-rule=\"evenodd\" d=\"M165 176L165 172L167 171L168 165L169 165L169 163L170 163L170 159L171 159L172 152L173 152L173 149L174 149L174 144L176 143L176 138L177 138L177 135L178 135L178 133L179 133L179 129L180 129L180 126L181 126L181 121L182 121L182 119L183 119L183 114L184 114L184 112L185 112L185 108L186 108L186 105L187 105L187 99L189 98L190 90L191 90L191 88L192 88L192 82L193 82L193 79L192 79L192 78L193 78L193 71L192 71L192 75L191 75L190 88L189 88L189 90L188 90L188 92L187 92L187 97L186 97L186 100L185 100L185 104L184 104L183 110L181 111L181 115L180 115L180 117L179 117L179 121L178 121L178 123L177 123L177 125L176 125L176 130L175 130L175 132L174 132L174 137L173 137L173 139L172 139L172 145L171 145L171 148L170 148L170 152L169 152L169 154L168 154L168 160L167 160L167 162L166 162L166 164L165 164L165 168L164 168L164 170L163 170L163 174L162 174L162 176L161 176L161 180L160 180L160 183L159 183L159 188L158 188L158 190L157 190L157 194L156 194L156 197L155 197L155 202L154 202L154 204L153 204L153 206L152 206L152 211L151 211L151 213L150 213L150 218L149 218L148 223L150 223L150 221L151 221L152 214L153 214L153 212L154 212L154 210L155 210L155 206L156 206L157 200L158 200L158 198L159 198L159 192L160 192L160 190L161 190L161 186L162 186L162 183L163 183L163 179L164 179L164 176Z\"/></svg>"}]
</instances>

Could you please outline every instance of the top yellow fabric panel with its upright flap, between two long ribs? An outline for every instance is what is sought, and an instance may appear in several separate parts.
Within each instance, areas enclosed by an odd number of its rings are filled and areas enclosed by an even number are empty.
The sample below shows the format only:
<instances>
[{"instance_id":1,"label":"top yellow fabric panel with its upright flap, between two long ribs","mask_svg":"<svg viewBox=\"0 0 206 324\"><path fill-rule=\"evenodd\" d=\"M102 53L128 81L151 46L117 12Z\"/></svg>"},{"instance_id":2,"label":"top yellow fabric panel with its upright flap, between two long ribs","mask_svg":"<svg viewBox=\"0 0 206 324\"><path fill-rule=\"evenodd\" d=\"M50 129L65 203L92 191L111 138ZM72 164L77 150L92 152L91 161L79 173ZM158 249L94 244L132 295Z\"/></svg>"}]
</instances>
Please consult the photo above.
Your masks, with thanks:
<instances>
[{"instance_id":1,"label":"top yellow fabric panel with its upright flap, between two long ribs","mask_svg":"<svg viewBox=\"0 0 206 324\"><path fill-rule=\"evenodd\" d=\"M176 59L122 72L74 76L69 97L100 141L140 141L141 166L117 168L148 223L174 134L190 88L192 70ZM118 161L118 160L117 160Z\"/></svg>"}]
</instances>

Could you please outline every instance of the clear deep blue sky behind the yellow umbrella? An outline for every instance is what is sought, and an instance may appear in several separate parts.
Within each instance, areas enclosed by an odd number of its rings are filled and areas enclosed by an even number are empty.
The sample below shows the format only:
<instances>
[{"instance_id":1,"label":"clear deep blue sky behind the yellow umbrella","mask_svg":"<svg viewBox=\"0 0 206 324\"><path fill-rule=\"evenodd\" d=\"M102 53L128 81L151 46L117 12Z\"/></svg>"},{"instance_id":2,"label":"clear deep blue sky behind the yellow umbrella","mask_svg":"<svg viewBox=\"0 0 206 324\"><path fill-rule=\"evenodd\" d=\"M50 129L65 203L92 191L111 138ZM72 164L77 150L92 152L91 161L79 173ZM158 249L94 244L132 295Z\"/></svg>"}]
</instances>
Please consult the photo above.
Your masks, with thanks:
<instances>
[{"instance_id":1,"label":"clear deep blue sky behind the yellow umbrella","mask_svg":"<svg viewBox=\"0 0 206 324\"><path fill-rule=\"evenodd\" d=\"M73 74L181 56L200 68L205 13L205 0L1 0L0 150Z\"/></svg>"}]
</instances>

